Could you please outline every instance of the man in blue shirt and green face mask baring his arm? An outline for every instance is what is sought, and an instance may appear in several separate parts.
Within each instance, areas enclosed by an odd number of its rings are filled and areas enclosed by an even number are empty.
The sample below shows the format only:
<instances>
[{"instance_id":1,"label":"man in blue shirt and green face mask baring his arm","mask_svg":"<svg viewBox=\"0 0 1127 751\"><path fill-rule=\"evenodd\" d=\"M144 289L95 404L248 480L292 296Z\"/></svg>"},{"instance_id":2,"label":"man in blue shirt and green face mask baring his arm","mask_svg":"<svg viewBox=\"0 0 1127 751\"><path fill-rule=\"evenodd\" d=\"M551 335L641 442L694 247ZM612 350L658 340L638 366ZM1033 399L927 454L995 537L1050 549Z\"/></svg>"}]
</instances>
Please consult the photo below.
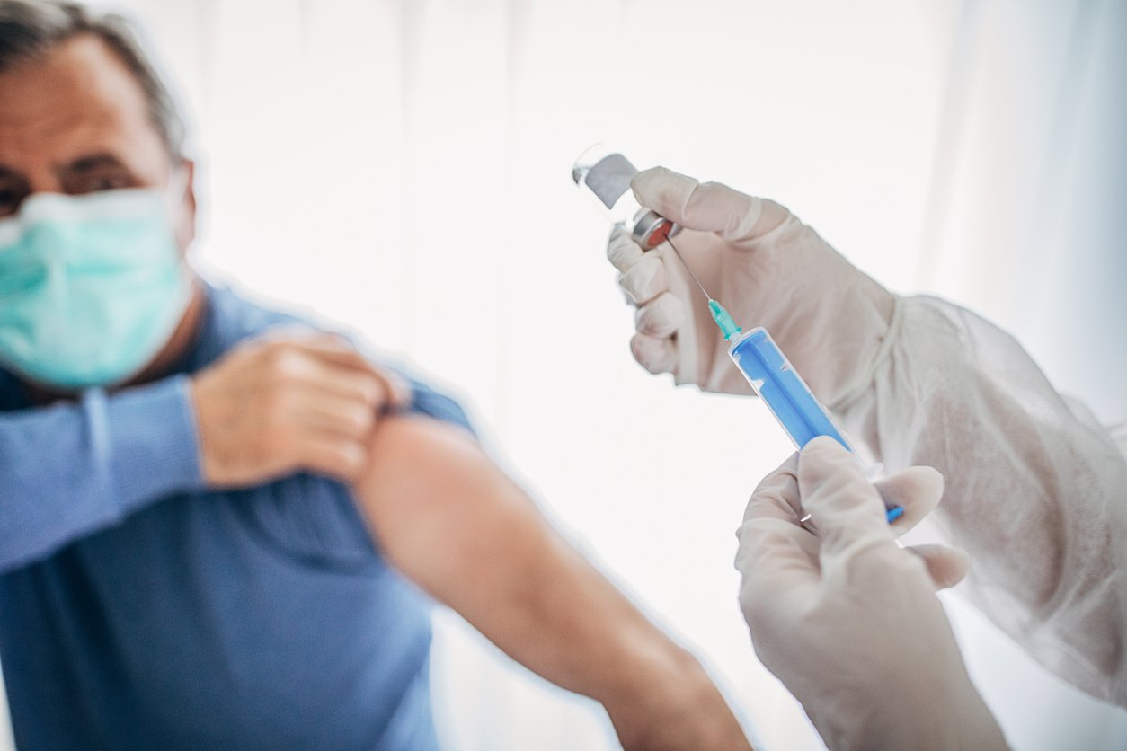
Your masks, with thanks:
<instances>
[{"instance_id":1,"label":"man in blue shirt and green face mask baring his arm","mask_svg":"<svg viewBox=\"0 0 1127 751\"><path fill-rule=\"evenodd\" d=\"M695 660L552 533L453 402L192 274L183 137L119 19L0 0L17 745L434 748L414 582L602 701L628 748L747 748Z\"/></svg>"}]
</instances>

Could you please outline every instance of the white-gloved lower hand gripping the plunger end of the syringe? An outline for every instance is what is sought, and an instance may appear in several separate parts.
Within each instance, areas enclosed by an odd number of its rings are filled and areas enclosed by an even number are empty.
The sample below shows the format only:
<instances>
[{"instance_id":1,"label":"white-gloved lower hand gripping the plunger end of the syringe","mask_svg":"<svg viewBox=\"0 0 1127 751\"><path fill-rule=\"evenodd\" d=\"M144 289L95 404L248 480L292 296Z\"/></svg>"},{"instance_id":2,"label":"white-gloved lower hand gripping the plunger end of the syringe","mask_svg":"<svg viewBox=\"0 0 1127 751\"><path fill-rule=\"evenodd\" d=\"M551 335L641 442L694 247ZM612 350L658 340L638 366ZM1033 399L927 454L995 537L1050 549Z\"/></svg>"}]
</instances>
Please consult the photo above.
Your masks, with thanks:
<instances>
[{"instance_id":1,"label":"white-gloved lower hand gripping the plunger end of the syringe","mask_svg":"<svg viewBox=\"0 0 1127 751\"><path fill-rule=\"evenodd\" d=\"M942 477L886 483L930 509ZM885 500L888 500L887 493ZM811 515L818 535L798 519ZM920 557L899 548L854 457L817 438L760 484L738 531L740 605L755 652L831 749L1004 749Z\"/></svg>"}]
</instances>

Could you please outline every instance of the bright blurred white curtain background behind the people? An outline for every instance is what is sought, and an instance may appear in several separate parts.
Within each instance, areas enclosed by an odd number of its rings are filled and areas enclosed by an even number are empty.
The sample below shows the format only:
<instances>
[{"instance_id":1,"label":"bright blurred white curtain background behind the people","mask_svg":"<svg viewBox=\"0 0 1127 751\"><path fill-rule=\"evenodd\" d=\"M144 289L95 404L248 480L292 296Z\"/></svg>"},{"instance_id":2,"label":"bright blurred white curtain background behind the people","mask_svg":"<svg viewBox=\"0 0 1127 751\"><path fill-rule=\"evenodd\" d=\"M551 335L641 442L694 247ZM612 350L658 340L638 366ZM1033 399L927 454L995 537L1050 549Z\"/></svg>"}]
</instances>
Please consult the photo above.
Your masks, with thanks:
<instances>
[{"instance_id":1,"label":"bright blurred white curtain background behind the people","mask_svg":"<svg viewBox=\"0 0 1127 751\"><path fill-rule=\"evenodd\" d=\"M1059 387L1127 418L1119 0L118 7L194 120L199 263L459 394L764 748L820 748L754 658L731 566L748 494L791 449L762 405L633 364L607 227L569 179L582 150L612 142L639 167L774 197L889 287L976 309ZM947 602L1015 748L1127 745L1127 713ZM452 750L615 745L596 706L450 614L434 670Z\"/></svg>"}]
</instances>

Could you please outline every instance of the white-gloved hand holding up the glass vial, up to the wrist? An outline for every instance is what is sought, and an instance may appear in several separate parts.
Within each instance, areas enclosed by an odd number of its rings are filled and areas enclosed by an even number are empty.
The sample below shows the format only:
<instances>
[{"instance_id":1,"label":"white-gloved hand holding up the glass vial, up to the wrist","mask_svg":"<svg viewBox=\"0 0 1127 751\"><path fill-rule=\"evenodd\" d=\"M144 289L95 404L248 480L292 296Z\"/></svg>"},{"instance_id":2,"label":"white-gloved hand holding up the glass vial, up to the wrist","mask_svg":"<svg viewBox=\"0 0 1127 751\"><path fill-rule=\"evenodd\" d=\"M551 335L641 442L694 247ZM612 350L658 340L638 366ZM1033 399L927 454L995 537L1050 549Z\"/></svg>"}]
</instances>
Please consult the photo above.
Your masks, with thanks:
<instances>
[{"instance_id":1,"label":"white-gloved hand holding up the glass vial, up to the wrist","mask_svg":"<svg viewBox=\"0 0 1127 751\"><path fill-rule=\"evenodd\" d=\"M875 361L894 296L771 200L664 168L638 173L638 202L684 227L674 243L708 292L744 329L765 327L823 402ZM668 244L644 253L615 233L607 257L638 306L635 358L678 384L751 393L731 366L707 302Z\"/></svg>"}]
</instances>

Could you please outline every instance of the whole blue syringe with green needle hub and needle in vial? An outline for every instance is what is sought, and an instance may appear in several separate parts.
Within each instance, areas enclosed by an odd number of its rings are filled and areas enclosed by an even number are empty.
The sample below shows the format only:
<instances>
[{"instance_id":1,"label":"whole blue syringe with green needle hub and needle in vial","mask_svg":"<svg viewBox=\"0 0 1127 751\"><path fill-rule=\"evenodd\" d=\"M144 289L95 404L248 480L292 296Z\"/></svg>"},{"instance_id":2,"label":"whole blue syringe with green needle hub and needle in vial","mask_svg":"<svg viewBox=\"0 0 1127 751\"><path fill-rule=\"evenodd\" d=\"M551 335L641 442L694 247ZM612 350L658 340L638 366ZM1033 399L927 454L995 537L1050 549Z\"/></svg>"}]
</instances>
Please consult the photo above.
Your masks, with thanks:
<instances>
[{"instance_id":1,"label":"whole blue syringe with green needle hub and needle in vial","mask_svg":"<svg viewBox=\"0 0 1127 751\"><path fill-rule=\"evenodd\" d=\"M795 446L801 450L804 446L818 436L829 436L857 456L857 452L834 424L826 408L814 396L809 386L791 366L790 360L782 354L779 345L774 342L766 329L758 327L746 332L740 329L728 311L724 309L724 305L708 294L704 285L685 262L684 256L673 244L673 240L666 236L665 242L677 254L681 265L708 299L709 313L724 333L725 341L728 342L728 356L731 361L736 364L739 372L747 378L747 383L771 410L771 414L787 431ZM861 461L860 457L858 461ZM868 467L866 470L866 474L871 474ZM903 515L904 509L899 506L886 510L889 524ZM802 521L806 519L804 518Z\"/></svg>"}]
</instances>

